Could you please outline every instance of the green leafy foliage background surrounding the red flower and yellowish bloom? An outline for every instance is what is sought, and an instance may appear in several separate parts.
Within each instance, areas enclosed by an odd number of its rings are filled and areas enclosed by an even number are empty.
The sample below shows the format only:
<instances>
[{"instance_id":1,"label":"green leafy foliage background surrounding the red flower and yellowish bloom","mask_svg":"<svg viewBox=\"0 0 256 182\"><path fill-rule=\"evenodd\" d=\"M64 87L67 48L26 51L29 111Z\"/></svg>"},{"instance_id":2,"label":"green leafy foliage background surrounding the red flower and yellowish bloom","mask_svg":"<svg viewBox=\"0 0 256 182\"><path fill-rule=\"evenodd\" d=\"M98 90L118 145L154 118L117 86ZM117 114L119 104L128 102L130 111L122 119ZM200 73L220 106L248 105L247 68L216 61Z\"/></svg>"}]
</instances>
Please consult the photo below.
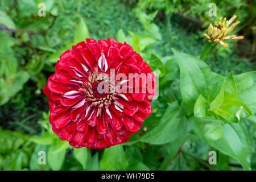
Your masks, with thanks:
<instances>
[{"instance_id":1,"label":"green leafy foliage background surrounding the red flower and yellowish bloom","mask_svg":"<svg viewBox=\"0 0 256 182\"><path fill-rule=\"evenodd\" d=\"M41 2L46 17L37 15ZM208 15L211 2L217 17ZM255 170L254 12L250 0L0 1L0 169ZM214 46L206 63L199 60L205 28L233 14L241 20L233 32L245 39ZM143 128L105 150L60 140L42 92L61 53L86 38L127 42L160 74ZM223 103L243 106L240 119ZM208 163L212 150L216 165Z\"/></svg>"}]
</instances>

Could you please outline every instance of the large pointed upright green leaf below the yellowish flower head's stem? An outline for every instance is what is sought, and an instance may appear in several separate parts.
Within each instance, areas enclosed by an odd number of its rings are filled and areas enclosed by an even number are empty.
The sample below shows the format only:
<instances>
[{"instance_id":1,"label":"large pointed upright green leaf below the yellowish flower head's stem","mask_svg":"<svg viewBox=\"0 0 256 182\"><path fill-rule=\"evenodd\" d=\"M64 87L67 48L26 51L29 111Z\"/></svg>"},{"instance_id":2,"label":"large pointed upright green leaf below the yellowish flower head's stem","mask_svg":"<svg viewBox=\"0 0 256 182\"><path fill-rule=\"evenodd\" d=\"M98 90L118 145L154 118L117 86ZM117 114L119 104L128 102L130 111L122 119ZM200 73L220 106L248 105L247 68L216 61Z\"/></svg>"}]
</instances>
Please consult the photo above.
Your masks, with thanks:
<instances>
[{"instance_id":1,"label":"large pointed upright green leaf below the yellowish flower head's stem","mask_svg":"<svg viewBox=\"0 0 256 182\"><path fill-rule=\"evenodd\" d=\"M201 93L220 76L212 73L204 61L195 56L172 49L180 67L180 92L187 114L193 113L194 104Z\"/></svg>"}]
</instances>

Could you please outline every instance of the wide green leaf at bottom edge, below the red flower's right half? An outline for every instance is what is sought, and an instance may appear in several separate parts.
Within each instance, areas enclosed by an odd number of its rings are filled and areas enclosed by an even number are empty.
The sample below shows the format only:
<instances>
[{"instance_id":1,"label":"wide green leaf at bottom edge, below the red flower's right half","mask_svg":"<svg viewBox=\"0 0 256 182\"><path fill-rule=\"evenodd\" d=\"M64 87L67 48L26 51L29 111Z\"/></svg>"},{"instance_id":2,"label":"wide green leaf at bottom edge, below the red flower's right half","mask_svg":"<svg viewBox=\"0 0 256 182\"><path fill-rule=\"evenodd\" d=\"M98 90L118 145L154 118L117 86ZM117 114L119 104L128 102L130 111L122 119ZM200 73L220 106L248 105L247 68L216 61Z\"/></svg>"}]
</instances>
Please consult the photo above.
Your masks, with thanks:
<instances>
[{"instance_id":1,"label":"wide green leaf at bottom edge, below the red flower's right half","mask_svg":"<svg viewBox=\"0 0 256 182\"><path fill-rule=\"evenodd\" d=\"M122 171L126 170L127 167L128 161L123 151L123 146L118 144L104 150L102 159L100 160L101 171Z\"/></svg>"}]
</instances>

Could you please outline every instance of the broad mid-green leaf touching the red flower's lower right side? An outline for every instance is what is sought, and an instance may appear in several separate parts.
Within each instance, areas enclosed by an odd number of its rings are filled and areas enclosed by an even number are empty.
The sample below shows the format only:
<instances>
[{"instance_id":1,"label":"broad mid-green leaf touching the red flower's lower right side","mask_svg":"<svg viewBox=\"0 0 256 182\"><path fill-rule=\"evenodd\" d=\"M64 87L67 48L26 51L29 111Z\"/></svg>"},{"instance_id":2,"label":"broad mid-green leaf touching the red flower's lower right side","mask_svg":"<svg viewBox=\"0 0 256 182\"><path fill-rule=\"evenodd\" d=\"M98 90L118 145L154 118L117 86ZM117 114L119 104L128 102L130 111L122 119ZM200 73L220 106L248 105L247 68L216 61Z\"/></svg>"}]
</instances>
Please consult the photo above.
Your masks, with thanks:
<instances>
[{"instance_id":1,"label":"broad mid-green leaf touching the red flower's lower right side","mask_svg":"<svg viewBox=\"0 0 256 182\"><path fill-rule=\"evenodd\" d=\"M179 104L177 101L169 105L160 119L159 126L144 135L141 141L151 144L164 144L183 135L187 121L185 117L176 117L178 110Z\"/></svg>"}]
</instances>

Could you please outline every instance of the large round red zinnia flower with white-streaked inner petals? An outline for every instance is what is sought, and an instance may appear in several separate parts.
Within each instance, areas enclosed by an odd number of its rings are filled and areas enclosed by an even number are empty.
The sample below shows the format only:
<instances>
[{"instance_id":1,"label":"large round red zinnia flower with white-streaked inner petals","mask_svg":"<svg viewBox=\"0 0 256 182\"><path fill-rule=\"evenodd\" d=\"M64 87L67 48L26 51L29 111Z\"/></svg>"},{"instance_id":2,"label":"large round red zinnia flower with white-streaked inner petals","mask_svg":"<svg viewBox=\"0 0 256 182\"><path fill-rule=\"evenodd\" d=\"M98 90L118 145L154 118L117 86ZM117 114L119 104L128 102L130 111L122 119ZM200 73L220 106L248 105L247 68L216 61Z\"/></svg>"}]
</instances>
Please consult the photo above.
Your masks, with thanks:
<instances>
[{"instance_id":1,"label":"large round red zinnia flower with white-streaked inner petals","mask_svg":"<svg viewBox=\"0 0 256 182\"><path fill-rule=\"evenodd\" d=\"M123 93L123 90L148 89L148 81L141 77L137 80L139 86L133 82L125 86L135 78L115 77L110 82L111 71L114 76L147 74L154 91ZM98 92L99 84L106 82L107 92ZM108 148L127 142L150 116L155 76L128 44L114 39L98 40L98 43L86 39L86 43L80 42L60 56L56 71L48 78L43 91L49 97L49 122L60 139L68 140L76 148Z\"/></svg>"}]
</instances>

